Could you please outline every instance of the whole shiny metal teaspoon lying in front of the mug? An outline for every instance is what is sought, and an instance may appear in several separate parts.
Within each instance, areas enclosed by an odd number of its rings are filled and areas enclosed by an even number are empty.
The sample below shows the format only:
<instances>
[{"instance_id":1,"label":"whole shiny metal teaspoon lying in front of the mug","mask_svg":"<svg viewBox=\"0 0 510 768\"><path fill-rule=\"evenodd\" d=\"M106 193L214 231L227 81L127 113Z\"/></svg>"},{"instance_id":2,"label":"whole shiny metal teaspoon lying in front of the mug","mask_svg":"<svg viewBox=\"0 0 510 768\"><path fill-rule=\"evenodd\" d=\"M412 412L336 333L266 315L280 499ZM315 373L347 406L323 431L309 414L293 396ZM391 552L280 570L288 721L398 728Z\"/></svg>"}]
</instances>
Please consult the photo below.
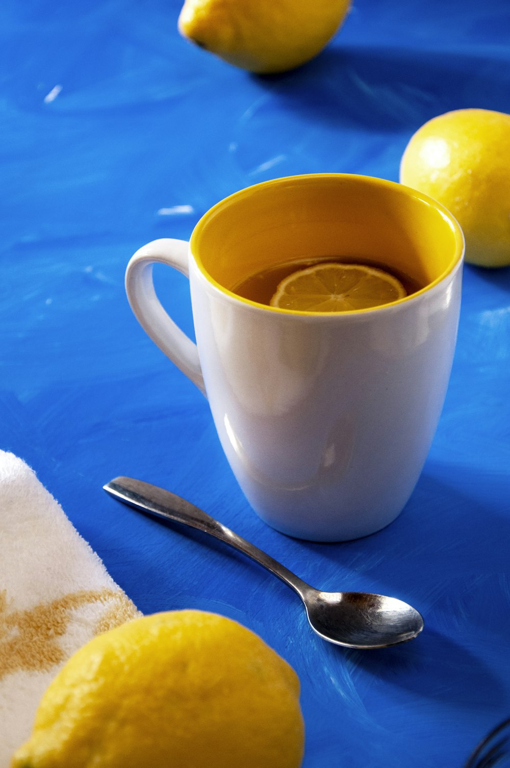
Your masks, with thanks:
<instances>
[{"instance_id":1,"label":"whole shiny metal teaspoon lying in front of the mug","mask_svg":"<svg viewBox=\"0 0 510 768\"><path fill-rule=\"evenodd\" d=\"M299 594L310 626L324 640L348 648L384 648L412 640L423 629L418 611L396 598L367 592L323 592L310 587L269 554L163 488L124 477L111 480L103 488L124 504L204 531L263 565Z\"/></svg>"}]
</instances>

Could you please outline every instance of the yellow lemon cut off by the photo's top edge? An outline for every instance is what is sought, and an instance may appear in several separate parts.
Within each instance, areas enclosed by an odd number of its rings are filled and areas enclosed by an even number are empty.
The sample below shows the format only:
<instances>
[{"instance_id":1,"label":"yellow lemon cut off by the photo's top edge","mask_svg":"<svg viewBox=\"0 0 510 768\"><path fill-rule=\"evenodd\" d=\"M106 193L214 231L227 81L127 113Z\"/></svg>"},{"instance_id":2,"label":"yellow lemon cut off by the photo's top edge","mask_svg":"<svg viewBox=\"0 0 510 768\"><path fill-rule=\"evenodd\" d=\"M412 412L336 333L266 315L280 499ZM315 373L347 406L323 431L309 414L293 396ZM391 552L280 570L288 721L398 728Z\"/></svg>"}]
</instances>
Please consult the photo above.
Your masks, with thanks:
<instances>
[{"instance_id":1,"label":"yellow lemon cut off by the photo's top edge","mask_svg":"<svg viewBox=\"0 0 510 768\"><path fill-rule=\"evenodd\" d=\"M186 0L181 35L252 72L283 72L318 54L350 0Z\"/></svg>"}]
</instances>

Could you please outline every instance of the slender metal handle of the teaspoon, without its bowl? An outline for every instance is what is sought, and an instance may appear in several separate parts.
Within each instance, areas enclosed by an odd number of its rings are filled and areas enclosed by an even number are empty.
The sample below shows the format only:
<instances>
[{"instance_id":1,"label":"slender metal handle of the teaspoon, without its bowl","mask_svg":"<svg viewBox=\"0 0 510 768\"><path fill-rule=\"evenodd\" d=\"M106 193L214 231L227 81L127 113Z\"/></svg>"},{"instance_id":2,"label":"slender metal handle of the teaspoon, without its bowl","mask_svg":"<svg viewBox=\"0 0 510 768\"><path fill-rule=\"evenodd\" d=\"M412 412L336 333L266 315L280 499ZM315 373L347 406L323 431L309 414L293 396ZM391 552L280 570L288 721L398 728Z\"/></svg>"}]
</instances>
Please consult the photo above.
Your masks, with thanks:
<instances>
[{"instance_id":1,"label":"slender metal handle of the teaspoon, without its bowl","mask_svg":"<svg viewBox=\"0 0 510 768\"><path fill-rule=\"evenodd\" d=\"M164 488L125 477L114 478L103 485L103 488L118 501L135 509L183 525L189 525L190 528L197 528L198 531L208 533L219 538L220 541L224 541L225 544L230 544L231 547L247 554L249 558L263 565L264 568L284 581L300 595L301 599L304 599L306 592L310 591L309 584L306 584L277 560L271 558L269 554L250 544L250 541L241 538L237 533L230 531L226 525L222 525L219 521L211 518L206 512L190 504L184 498L180 498L170 491L165 491Z\"/></svg>"}]
</instances>

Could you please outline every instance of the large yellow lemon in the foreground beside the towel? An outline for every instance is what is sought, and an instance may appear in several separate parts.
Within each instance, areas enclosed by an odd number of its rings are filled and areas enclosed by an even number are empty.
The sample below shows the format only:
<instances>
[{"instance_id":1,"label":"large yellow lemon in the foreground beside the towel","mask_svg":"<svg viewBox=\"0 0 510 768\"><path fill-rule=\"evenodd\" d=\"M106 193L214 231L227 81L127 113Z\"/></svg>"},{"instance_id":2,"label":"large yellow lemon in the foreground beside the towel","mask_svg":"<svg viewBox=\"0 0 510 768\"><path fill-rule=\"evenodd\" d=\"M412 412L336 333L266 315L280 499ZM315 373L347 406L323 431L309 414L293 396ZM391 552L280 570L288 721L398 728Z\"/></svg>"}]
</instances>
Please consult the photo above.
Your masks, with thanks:
<instances>
[{"instance_id":1,"label":"large yellow lemon in the foreground beside the towel","mask_svg":"<svg viewBox=\"0 0 510 768\"><path fill-rule=\"evenodd\" d=\"M299 680L246 627L168 611L94 637L11 768L298 768Z\"/></svg>"}]
</instances>

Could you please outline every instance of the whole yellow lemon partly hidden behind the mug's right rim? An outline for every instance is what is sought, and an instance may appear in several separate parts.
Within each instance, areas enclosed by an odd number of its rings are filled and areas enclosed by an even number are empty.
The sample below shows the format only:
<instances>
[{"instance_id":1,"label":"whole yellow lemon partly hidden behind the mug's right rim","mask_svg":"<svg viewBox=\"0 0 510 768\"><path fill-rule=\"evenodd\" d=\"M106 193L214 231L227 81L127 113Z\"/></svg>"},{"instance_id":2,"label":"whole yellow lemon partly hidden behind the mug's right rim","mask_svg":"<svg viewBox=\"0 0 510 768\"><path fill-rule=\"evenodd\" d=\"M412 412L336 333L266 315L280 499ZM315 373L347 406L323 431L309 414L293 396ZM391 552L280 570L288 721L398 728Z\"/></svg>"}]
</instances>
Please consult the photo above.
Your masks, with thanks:
<instances>
[{"instance_id":1,"label":"whole yellow lemon partly hidden behind the mug's right rim","mask_svg":"<svg viewBox=\"0 0 510 768\"><path fill-rule=\"evenodd\" d=\"M510 264L510 115L460 109L433 118L409 141L400 181L451 211L466 261Z\"/></svg>"}]
</instances>

